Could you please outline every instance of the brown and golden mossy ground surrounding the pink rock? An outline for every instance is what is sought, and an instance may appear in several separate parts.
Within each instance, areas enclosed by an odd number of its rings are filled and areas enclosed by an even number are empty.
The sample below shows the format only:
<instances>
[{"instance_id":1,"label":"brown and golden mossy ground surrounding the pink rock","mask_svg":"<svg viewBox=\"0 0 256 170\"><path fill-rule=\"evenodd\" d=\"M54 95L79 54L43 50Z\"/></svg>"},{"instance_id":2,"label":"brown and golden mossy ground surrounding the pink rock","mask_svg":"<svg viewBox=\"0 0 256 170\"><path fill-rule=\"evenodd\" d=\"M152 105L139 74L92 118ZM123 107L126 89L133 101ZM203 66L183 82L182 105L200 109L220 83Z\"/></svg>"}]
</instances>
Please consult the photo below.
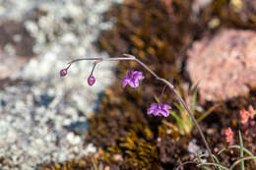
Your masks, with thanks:
<instances>
[{"instance_id":1,"label":"brown and golden mossy ground surrounding the pink rock","mask_svg":"<svg viewBox=\"0 0 256 170\"><path fill-rule=\"evenodd\" d=\"M169 7L159 0L126 0L123 5L113 7L105 15L106 20L116 19L116 25L110 31L102 32L97 45L110 56L123 53L137 56L160 77L182 89L184 84L191 84L183 68L186 50L194 40L219 28L256 28L255 9L250 6L250 1L244 0L242 3L243 6L239 7L228 0L216 0L195 14L192 1L189 0L172 0L171 13L167 10ZM211 22L214 20L218 20L219 24L213 27ZM187 143L192 138L197 139L204 148L197 130L194 129L189 137L181 137L178 132L169 131L162 124L163 119L173 122L171 117L148 116L147 107L154 101L154 95L160 95L163 85L144 72L147 79L138 90L129 87L124 89L121 87L121 78L128 69L142 68L133 62L120 62L116 70L119 81L105 90L99 111L90 119L87 142L93 142L99 150L96 161L110 169L156 170L172 169L190 160ZM173 102L172 93L167 90L163 100L165 103ZM256 107L254 87L249 96L201 106L207 110L214 104L220 106L201 125L211 148L218 150L226 146L224 136L220 133L222 130L227 127L240 129L239 109L249 104ZM255 153L251 142L244 143ZM232 159L226 151L221 156L221 163L230 165ZM253 167L250 163L246 163L246 166L249 169ZM54 164L47 167L63 169L56 168ZM190 165L185 169L196 167Z\"/></svg>"}]
</instances>

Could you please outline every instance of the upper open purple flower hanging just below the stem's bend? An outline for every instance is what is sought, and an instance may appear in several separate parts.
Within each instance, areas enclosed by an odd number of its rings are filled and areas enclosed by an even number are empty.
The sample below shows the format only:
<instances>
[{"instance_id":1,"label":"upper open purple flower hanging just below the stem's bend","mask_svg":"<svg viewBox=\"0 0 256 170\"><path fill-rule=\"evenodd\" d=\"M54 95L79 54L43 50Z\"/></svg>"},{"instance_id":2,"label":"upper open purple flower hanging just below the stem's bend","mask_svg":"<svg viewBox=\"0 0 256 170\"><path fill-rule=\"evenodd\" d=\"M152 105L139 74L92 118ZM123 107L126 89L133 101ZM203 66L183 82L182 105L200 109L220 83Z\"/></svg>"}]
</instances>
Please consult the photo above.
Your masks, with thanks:
<instances>
[{"instance_id":1,"label":"upper open purple flower hanging just below the stem's bend","mask_svg":"<svg viewBox=\"0 0 256 170\"><path fill-rule=\"evenodd\" d=\"M123 79L123 87L129 84L131 87L138 87L139 80L143 80L145 77L142 72L139 71L128 71L127 75Z\"/></svg>"}]
</instances>

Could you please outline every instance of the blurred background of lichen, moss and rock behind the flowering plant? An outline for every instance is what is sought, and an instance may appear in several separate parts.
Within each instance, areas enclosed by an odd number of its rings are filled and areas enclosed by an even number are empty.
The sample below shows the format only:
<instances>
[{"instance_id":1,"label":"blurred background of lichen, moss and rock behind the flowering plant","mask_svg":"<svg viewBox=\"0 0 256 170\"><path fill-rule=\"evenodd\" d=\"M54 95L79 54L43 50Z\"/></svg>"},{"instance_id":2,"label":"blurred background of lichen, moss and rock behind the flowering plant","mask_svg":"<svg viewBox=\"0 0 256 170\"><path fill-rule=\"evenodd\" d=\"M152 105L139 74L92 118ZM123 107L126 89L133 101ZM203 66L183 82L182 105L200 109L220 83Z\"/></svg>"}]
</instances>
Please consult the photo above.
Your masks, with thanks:
<instances>
[{"instance_id":1,"label":"blurred background of lichen, moss and rock behind the flowering plant","mask_svg":"<svg viewBox=\"0 0 256 170\"><path fill-rule=\"evenodd\" d=\"M123 53L178 88L219 151L256 107L255 28L252 0L0 0L0 169L172 169L205 152L168 89L182 123L147 115L163 85L138 64L101 62L93 86L90 61L59 77L73 59ZM136 90L122 88L127 70L146 76Z\"/></svg>"}]
</instances>

